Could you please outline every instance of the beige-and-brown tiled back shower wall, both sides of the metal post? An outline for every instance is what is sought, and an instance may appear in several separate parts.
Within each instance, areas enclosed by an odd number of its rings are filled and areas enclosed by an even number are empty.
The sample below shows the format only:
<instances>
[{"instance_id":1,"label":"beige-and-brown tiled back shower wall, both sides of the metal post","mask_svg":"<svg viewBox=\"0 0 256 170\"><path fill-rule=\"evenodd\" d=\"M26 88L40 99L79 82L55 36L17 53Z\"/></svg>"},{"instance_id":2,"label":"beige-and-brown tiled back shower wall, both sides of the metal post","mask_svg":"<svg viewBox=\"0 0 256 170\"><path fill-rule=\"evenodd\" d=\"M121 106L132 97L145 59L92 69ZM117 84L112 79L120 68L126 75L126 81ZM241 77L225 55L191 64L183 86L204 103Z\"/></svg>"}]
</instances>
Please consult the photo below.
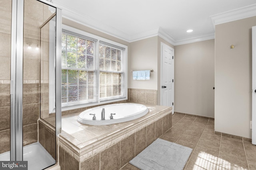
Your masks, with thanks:
<instances>
[{"instance_id":1,"label":"beige-and-brown tiled back shower wall, both sides of the metal post","mask_svg":"<svg viewBox=\"0 0 256 170\"><path fill-rule=\"evenodd\" d=\"M0 5L0 153L10 150L11 0ZM40 25L52 15L47 5L24 0L23 145L38 141ZM32 49L28 50L28 43ZM47 69L47 68L46 68Z\"/></svg>"}]
</instances>

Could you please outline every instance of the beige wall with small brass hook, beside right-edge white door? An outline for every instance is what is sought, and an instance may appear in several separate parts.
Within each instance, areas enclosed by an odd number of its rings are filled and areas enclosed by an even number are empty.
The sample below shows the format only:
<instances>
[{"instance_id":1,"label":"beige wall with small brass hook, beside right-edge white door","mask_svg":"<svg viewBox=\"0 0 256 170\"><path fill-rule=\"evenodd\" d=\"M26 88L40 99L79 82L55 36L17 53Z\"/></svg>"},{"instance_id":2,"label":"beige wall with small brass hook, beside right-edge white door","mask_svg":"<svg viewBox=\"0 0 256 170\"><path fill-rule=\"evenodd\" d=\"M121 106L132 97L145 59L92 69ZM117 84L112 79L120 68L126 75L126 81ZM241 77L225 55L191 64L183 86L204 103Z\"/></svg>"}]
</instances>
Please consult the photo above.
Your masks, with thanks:
<instances>
[{"instance_id":1,"label":"beige wall with small brass hook, beside right-edge white door","mask_svg":"<svg viewBox=\"0 0 256 170\"><path fill-rule=\"evenodd\" d=\"M252 26L256 17L215 27L215 131L251 138ZM235 48L230 49L234 44Z\"/></svg>"}]
</instances>

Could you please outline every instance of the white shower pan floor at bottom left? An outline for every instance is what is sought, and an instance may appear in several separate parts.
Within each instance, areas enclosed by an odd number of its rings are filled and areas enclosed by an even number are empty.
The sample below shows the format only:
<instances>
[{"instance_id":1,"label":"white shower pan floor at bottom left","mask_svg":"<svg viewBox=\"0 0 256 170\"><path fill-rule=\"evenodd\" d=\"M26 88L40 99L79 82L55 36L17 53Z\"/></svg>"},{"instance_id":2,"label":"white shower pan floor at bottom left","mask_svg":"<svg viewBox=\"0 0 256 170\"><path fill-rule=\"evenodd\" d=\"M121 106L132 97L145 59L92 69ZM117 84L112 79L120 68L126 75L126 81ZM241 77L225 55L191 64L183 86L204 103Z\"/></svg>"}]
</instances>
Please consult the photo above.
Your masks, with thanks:
<instances>
[{"instance_id":1,"label":"white shower pan floor at bottom left","mask_svg":"<svg viewBox=\"0 0 256 170\"><path fill-rule=\"evenodd\" d=\"M10 161L10 151L0 154L0 160ZM23 147L23 160L28 161L28 170L42 170L56 163L39 142Z\"/></svg>"}]
</instances>

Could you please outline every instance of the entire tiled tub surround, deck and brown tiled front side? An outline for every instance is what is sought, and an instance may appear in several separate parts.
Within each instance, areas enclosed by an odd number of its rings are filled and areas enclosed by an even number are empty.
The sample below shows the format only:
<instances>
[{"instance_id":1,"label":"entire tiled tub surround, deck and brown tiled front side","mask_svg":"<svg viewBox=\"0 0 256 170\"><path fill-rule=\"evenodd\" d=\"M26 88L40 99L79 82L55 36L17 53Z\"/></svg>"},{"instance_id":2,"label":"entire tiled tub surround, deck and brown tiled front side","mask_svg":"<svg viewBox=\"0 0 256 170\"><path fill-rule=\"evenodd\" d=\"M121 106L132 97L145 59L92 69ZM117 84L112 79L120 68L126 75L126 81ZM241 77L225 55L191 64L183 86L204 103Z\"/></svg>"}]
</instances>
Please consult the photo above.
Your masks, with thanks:
<instances>
[{"instance_id":1,"label":"entire tiled tub surround, deck and brown tiled front side","mask_svg":"<svg viewBox=\"0 0 256 170\"><path fill-rule=\"evenodd\" d=\"M172 107L146 106L150 111L145 116L113 125L78 123L80 112L63 115L58 137L60 166L67 169L72 164L81 170L122 168L172 127Z\"/></svg>"}]
</instances>

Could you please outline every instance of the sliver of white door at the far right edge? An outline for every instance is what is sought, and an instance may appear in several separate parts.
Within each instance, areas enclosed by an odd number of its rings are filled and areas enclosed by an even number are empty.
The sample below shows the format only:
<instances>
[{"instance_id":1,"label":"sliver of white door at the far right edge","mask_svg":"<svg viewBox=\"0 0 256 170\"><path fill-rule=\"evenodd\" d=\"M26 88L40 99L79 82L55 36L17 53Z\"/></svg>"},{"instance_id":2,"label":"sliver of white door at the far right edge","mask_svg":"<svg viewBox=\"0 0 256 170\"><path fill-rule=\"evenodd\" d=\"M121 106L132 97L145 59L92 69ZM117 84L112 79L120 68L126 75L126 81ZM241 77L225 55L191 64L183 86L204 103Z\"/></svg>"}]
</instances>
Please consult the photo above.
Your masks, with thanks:
<instances>
[{"instance_id":1,"label":"sliver of white door at the far right edge","mask_svg":"<svg viewBox=\"0 0 256 170\"><path fill-rule=\"evenodd\" d=\"M256 145L256 26L252 27L252 144Z\"/></svg>"}]
</instances>

